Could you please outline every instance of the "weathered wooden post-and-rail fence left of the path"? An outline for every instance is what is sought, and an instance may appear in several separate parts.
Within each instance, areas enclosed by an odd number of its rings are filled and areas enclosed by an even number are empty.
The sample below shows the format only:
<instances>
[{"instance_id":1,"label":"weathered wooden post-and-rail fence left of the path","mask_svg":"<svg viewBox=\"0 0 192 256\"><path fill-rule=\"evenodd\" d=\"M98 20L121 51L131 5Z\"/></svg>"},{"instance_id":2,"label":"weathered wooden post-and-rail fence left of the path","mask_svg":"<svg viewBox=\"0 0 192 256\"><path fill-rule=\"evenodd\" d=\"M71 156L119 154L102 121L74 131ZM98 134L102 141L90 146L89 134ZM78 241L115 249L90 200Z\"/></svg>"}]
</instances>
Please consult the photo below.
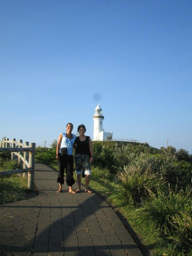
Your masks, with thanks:
<instances>
[{"instance_id":1,"label":"weathered wooden post-and-rail fence left of the path","mask_svg":"<svg viewBox=\"0 0 192 256\"><path fill-rule=\"evenodd\" d=\"M9 147L11 143L11 147ZM18 148L15 146L18 145ZM27 176L28 173L28 188L34 187L34 170L35 170L35 143L24 142L20 139L18 142L15 139L2 139L0 141L0 152L11 152L11 160L17 157L20 166L23 169L0 171L0 177L3 175L19 174L23 173L23 176ZM23 156L21 152L24 152Z\"/></svg>"}]
</instances>

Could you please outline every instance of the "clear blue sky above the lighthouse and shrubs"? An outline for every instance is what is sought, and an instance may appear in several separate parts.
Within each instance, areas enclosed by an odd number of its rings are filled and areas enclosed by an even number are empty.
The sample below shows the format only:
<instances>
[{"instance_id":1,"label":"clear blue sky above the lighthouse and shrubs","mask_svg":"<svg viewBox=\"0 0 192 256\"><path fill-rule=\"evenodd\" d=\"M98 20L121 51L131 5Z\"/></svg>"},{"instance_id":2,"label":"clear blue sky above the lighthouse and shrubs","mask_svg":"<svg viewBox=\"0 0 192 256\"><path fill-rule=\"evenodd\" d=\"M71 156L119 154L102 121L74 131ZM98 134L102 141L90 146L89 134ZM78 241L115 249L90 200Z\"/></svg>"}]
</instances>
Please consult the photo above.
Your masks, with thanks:
<instances>
[{"instance_id":1,"label":"clear blue sky above the lighthouse and shrubs","mask_svg":"<svg viewBox=\"0 0 192 256\"><path fill-rule=\"evenodd\" d=\"M47 146L72 122L192 154L192 2L0 1L0 136Z\"/></svg>"}]
</instances>

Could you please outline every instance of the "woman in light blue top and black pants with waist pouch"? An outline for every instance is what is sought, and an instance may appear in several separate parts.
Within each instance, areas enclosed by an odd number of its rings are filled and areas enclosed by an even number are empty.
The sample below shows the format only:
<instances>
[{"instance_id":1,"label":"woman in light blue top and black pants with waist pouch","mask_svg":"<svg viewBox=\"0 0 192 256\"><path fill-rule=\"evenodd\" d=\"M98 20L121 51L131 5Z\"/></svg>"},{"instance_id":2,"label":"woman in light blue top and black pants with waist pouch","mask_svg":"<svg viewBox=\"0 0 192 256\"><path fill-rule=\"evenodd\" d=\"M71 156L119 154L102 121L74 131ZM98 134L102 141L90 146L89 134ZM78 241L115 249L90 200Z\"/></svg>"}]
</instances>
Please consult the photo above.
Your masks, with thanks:
<instances>
[{"instance_id":1,"label":"woman in light blue top and black pants with waist pouch","mask_svg":"<svg viewBox=\"0 0 192 256\"><path fill-rule=\"evenodd\" d=\"M57 182L59 183L58 193L62 192L62 185L64 184L64 171L66 171L66 182L69 186L69 192L75 193L72 185L75 183L73 178L73 143L76 136L72 134L72 123L67 124L67 132L60 133L57 142L56 159L58 160L59 174ZM66 154L61 154L62 149L65 149Z\"/></svg>"}]
</instances>

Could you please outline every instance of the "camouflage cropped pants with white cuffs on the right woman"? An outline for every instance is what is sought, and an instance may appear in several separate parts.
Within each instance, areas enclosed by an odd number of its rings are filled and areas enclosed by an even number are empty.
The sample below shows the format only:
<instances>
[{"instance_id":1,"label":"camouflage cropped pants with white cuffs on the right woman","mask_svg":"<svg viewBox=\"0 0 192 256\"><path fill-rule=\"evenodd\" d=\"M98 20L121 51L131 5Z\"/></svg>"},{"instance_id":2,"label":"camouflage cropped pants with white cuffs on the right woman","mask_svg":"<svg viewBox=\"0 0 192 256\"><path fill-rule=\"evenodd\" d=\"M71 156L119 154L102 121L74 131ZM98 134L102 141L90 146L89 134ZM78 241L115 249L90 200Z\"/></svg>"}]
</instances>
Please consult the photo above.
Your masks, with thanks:
<instances>
[{"instance_id":1,"label":"camouflage cropped pants with white cuffs on the right woman","mask_svg":"<svg viewBox=\"0 0 192 256\"><path fill-rule=\"evenodd\" d=\"M75 173L77 175L82 174L82 167L84 169L85 174L91 175L91 163L89 155L75 154L74 161L76 167Z\"/></svg>"}]
</instances>

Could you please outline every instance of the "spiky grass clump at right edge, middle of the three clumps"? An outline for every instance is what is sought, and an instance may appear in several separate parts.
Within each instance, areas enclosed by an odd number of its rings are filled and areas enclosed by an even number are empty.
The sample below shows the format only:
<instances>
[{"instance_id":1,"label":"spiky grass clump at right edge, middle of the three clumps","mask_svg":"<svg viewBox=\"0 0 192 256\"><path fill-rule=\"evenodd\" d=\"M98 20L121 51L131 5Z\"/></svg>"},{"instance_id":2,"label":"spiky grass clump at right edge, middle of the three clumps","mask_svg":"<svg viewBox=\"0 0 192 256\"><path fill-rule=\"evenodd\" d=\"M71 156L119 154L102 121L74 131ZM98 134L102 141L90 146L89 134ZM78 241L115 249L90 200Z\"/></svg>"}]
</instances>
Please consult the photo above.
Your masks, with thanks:
<instances>
[{"instance_id":1,"label":"spiky grass clump at right edge, middle of the three clumps","mask_svg":"<svg viewBox=\"0 0 192 256\"><path fill-rule=\"evenodd\" d=\"M192 213L191 196L182 190L177 192L168 188L168 193L162 192L159 188L157 193L149 192L150 197L139 209L143 213L143 220L151 219L159 228L160 232L168 235L178 229L176 220Z\"/></svg>"}]
</instances>

